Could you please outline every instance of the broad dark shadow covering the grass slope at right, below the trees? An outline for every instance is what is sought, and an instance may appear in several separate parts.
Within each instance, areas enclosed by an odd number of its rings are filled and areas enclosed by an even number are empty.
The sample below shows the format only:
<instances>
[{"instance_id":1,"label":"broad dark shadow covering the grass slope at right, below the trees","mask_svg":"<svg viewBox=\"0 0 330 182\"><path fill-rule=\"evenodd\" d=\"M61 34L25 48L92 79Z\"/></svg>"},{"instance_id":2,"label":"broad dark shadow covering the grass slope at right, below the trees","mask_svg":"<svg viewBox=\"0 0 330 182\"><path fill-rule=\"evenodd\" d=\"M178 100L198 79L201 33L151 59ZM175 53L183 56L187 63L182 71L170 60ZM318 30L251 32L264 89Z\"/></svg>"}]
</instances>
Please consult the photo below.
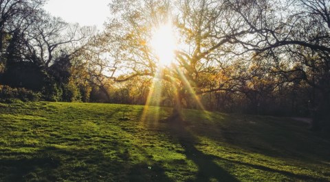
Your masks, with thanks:
<instances>
[{"instance_id":1,"label":"broad dark shadow covering the grass slope at right, below the trees","mask_svg":"<svg viewBox=\"0 0 330 182\"><path fill-rule=\"evenodd\" d=\"M199 120L206 120L199 118ZM226 116L212 122L190 122L190 131L244 151L270 157L318 163L328 161L330 138L308 130L308 124L271 116Z\"/></svg>"}]
</instances>

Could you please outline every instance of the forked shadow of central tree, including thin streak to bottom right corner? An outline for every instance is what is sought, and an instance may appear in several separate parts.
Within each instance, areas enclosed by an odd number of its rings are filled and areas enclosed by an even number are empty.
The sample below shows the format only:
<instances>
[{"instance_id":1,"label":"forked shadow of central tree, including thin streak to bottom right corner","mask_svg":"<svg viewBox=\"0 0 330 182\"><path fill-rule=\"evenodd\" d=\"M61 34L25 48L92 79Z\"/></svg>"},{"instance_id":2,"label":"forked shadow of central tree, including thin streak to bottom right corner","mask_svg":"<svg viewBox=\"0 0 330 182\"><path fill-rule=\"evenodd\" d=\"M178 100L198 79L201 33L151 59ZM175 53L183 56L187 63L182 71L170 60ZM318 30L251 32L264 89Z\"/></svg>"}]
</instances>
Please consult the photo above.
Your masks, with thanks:
<instances>
[{"instance_id":1,"label":"forked shadow of central tree, including thin streak to bottom right corner","mask_svg":"<svg viewBox=\"0 0 330 182\"><path fill-rule=\"evenodd\" d=\"M235 179L231 174L223 170L219 165L217 165L214 160L217 161L226 161L230 164L239 164L240 166L247 166L250 168L254 168L257 170L263 170L265 172L274 172L278 174L283 174L291 179L296 179L299 181L327 181L322 177L312 177L305 174L294 174L292 172L288 172L285 170L277 170L274 168L269 168L267 166L261 166L257 164L249 164L243 161L234 161L230 159L225 159L216 155L206 155L199 151L195 144L197 144L197 140L195 136L190 133L186 128L191 126L191 122L187 121L173 121L168 122L168 127L170 129L170 134L173 135L179 141L179 144L184 148L184 154L186 155L187 159L191 159L194 163L198 166L199 171L197 173L195 181L210 181L210 179L217 179L218 181L238 181ZM192 127L195 129L195 127ZM194 131L194 130L192 130ZM212 132L203 131L203 135L208 135L212 138ZM227 133L228 134L228 133ZM224 134L227 139L229 140L228 135ZM232 136L234 138L234 136ZM232 142L232 139L230 139ZM242 146L243 147L243 146ZM263 150L263 148L260 148Z\"/></svg>"}]
</instances>

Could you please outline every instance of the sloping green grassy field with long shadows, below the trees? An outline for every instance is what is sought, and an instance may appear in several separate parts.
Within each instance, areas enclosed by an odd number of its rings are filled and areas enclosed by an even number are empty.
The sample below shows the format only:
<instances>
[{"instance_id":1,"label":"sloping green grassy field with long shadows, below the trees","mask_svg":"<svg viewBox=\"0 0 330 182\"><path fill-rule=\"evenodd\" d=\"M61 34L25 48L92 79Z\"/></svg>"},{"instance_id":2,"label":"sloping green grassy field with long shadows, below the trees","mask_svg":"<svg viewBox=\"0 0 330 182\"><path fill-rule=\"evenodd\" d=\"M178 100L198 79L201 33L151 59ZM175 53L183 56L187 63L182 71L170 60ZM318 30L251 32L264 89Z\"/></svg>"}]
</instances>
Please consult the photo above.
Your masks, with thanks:
<instances>
[{"instance_id":1,"label":"sloping green grassy field with long shadows, below the trees","mask_svg":"<svg viewBox=\"0 0 330 182\"><path fill-rule=\"evenodd\" d=\"M179 125L169 112L0 104L0 181L330 181L330 138L304 122L186 109Z\"/></svg>"}]
</instances>

